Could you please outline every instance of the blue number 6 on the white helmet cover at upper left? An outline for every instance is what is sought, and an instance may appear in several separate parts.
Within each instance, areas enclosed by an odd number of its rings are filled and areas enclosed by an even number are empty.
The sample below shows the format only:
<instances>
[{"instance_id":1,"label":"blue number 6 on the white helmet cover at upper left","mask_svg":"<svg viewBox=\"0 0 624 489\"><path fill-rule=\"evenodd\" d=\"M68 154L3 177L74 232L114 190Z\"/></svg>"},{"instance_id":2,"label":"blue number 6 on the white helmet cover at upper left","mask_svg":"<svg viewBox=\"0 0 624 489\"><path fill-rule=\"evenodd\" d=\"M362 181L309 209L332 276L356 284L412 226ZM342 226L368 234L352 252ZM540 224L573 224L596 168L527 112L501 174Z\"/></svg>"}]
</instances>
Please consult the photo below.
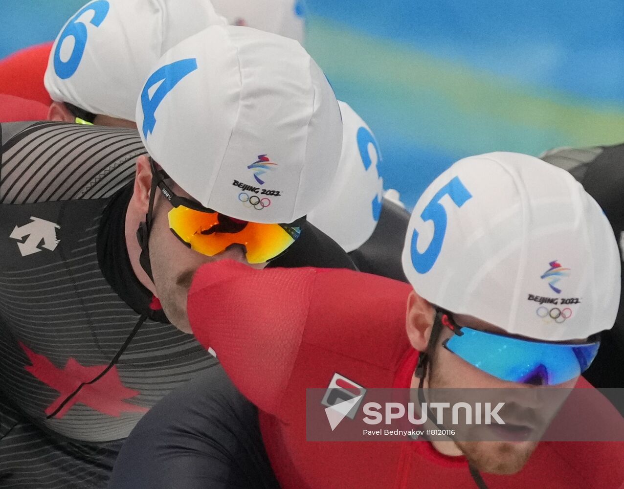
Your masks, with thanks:
<instances>
[{"instance_id":1,"label":"blue number 6 on the white helmet cover at upper left","mask_svg":"<svg viewBox=\"0 0 624 489\"><path fill-rule=\"evenodd\" d=\"M54 71L57 77L63 80L71 77L71 75L76 73L78 65L82 60L84 47L87 45L87 26L85 26L84 22L77 21L78 17L82 16L84 12L93 11L94 16L89 23L95 27L99 27L109 13L109 8L109 2L106 0L96 0L89 5L85 5L84 8L80 9L71 21L69 21L65 29L63 29L63 32L61 32L59 41L56 43L56 51L54 51ZM74 49L69 59L67 61L62 61L61 46L69 36L74 37Z\"/></svg>"}]
</instances>

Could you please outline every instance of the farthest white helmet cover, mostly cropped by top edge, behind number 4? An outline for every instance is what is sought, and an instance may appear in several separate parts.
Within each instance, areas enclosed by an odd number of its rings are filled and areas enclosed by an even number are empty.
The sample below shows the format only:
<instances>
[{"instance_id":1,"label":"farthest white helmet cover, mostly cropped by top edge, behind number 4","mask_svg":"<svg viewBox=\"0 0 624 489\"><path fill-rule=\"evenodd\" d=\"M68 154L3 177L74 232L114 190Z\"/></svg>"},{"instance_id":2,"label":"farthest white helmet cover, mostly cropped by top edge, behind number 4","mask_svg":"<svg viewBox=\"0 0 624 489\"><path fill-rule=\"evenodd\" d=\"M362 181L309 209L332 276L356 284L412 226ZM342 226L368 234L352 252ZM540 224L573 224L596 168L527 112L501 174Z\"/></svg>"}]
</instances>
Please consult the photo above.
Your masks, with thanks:
<instances>
[{"instance_id":1,"label":"farthest white helmet cover, mostly cropped by top edge, behind number 4","mask_svg":"<svg viewBox=\"0 0 624 489\"><path fill-rule=\"evenodd\" d=\"M232 26L247 26L290 37L303 44L303 0L213 0L215 10Z\"/></svg>"}]
</instances>

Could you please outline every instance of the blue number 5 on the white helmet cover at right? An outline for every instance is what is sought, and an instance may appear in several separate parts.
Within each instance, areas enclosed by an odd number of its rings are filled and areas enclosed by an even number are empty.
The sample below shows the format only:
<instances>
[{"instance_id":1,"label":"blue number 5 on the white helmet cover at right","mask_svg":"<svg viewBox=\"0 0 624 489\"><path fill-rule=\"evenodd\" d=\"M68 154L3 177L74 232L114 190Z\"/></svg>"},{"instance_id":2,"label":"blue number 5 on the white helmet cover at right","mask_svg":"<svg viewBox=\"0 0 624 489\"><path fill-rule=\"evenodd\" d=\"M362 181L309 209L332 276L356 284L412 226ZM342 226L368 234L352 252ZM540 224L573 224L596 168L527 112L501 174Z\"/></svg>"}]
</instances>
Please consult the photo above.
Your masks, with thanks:
<instances>
[{"instance_id":1,"label":"blue number 5 on the white helmet cover at right","mask_svg":"<svg viewBox=\"0 0 624 489\"><path fill-rule=\"evenodd\" d=\"M436 195L431 199L431 202L424 208L421 213L421 218L423 221L433 221L434 233L431 243L429 243L429 246L423 253L420 253L416 248L418 231L414 230L412 234L412 265L414 265L418 273L427 273L431 270L436 263L437 257L440 255L440 251L442 251L442 242L446 235L447 223L446 209L444 209L444 206L440 203L440 199L444 195L451 197L451 200L457 207L461 207L467 200L472 198L472 195L461 180L459 180L459 177L454 177L451 182L437 191Z\"/></svg>"}]
</instances>

